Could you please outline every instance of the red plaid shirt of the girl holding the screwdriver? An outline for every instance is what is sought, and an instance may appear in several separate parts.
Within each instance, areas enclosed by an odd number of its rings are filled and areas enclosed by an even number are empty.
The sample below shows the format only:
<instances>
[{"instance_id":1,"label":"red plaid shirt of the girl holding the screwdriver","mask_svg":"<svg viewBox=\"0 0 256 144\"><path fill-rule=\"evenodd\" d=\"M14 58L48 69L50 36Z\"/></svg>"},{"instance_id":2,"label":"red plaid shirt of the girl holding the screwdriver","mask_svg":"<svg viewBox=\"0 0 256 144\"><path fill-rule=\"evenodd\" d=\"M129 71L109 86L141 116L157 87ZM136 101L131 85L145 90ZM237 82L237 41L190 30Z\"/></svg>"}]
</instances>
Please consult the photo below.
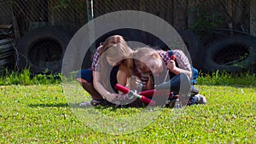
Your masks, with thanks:
<instances>
[{"instance_id":1,"label":"red plaid shirt of the girl holding the screwdriver","mask_svg":"<svg viewBox=\"0 0 256 144\"><path fill-rule=\"evenodd\" d=\"M184 55L183 51L180 50L180 49L173 49L172 52L173 52L173 55L176 56L176 61L177 61L178 67L183 69L183 70L187 70L189 72L192 72L191 65L189 64L189 59L186 55ZM171 60L172 55L169 55L168 51L157 50L157 53L164 60L166 65Z\"/></svg>"}]
</instances>

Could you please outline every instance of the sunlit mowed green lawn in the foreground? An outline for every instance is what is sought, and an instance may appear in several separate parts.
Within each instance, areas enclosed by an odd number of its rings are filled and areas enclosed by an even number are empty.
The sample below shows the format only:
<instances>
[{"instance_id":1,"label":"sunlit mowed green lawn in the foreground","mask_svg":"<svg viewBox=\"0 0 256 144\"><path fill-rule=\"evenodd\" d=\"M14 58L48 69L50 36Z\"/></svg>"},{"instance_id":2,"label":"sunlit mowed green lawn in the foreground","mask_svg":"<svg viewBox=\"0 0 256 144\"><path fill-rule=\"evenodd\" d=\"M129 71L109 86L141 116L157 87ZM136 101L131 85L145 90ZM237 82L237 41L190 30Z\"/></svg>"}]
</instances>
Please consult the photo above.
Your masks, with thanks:
<instances>
[{"instance_id":1,"label":"sunlit mowed green lawn in the foreground","mask_svg":"<svg viewBox=\"0 0 256 144\"><path fill-rule=\"evenodd\" d=\"M78 118L61 84L1 86L0 143L256 143L255 87L197 87L207 97L206 106L161 108L142 128L111 134ZM98 119L90 118L91 109L113 118L143 112L143 108L84 109L82 118L95 125ZM138 118L136 124L146 123ZM108 124L100 127L104 126Z\"/></svg>"}]
</instances>

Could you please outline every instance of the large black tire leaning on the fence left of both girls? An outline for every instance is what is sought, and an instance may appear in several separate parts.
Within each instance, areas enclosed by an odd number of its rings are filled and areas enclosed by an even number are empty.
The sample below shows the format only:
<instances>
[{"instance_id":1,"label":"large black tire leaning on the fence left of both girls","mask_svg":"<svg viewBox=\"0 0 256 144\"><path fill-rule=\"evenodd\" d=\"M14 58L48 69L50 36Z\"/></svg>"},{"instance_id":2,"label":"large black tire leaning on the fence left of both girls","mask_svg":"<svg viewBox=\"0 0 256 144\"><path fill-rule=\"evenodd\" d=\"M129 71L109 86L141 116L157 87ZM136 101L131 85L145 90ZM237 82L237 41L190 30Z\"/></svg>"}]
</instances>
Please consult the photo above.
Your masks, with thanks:
<instances>
[{"instance_id":1,"label":"large black tire leaning on the fence left of both girls","mask_svg":"<svg viewBox=\"0 0 256 144\"><path fill-rule=\"evenodd\" d=\"M70 40L69 33L56 27L39 27L27 32L17 44L20 53L17 67L30 68L35 74L46 69L52 73L61 72L63 55Z\"/></svg>"}]
</instances>

